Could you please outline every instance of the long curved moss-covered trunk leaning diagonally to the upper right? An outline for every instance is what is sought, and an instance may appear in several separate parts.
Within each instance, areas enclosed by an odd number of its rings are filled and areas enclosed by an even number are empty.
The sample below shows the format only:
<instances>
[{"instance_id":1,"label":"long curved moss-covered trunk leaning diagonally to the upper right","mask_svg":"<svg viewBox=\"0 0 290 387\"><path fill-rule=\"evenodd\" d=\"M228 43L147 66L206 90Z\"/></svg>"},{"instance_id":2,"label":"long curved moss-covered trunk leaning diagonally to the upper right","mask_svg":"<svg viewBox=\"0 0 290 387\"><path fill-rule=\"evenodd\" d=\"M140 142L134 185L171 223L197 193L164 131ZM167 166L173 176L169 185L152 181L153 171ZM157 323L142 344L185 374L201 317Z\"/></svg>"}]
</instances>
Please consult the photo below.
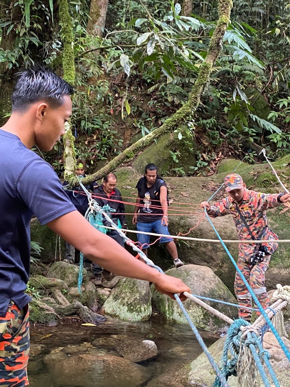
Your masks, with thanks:
<instances>
[{"instance_id":1,"label":"long curved moss-covered trunk leaning diagonally to the upper right","mask_svg":"<svg viewBox=\"0 0 290 387\"><path fill-rule=\"evenodd\" d=\"M125 149L125 151L116 156L106 166L101 168L93 175L85 177L83 180L85 185L106 176L108 173L115 170L121 163L123 163L123 161L133 158L133 156L135 156L138 151L152 144L152 142L158 137L167 132L173 132L180 125L192 120L194 113L200 104L200 97L203 89L210 79L210 73L212 72L213 64L215 63L215 60L217 59L222 47L222 39L230 21L231 9L232 0L220 0L218 2L219 18L217 21L217 26L215 27L212 38L210 39L205 61L200 66L200 72L187 103L184 104L179 110L177 110L176 113L174 113L171 117L167 118L167 120L160 128L155 129L152 133L147 134L145 137L135 142L135 144Z\"/></svg>"}]
</instances>

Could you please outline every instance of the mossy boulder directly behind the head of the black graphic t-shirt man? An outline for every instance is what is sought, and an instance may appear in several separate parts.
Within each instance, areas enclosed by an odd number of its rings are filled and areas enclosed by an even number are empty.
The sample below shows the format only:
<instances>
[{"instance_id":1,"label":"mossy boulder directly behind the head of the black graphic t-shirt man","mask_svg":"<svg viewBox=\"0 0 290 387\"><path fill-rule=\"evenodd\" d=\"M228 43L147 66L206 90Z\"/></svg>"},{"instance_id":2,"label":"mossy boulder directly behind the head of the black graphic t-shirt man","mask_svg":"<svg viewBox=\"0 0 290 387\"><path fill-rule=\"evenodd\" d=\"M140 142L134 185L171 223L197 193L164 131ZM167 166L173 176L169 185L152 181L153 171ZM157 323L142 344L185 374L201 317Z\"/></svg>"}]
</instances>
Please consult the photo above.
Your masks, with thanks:
<instances>
[{"instance_id":1,"label":"mossy boulder directly behind the head of the black graphic t-shirt man","mask_svg":"<svg viewBox=\"0 0 290 387\"><path fill-rule=\"evenodd\" d=\"M178 139L179 132L167 133L157 139L148 146L139 156L133 161L133 168L136 171L143 173L144 167L148 163L157 165L159 173L172 173L172 168L182 168L185 173L188 173L191 166L196 165L195 152L197 145L195 142L190 144L184 141L184 138ZM185 135L184 135L185 136ZM191 148L191 149L189 149ZM174 161L171 152L178 152L176 155L178 162Z\"/></svg>"}]
</instances>

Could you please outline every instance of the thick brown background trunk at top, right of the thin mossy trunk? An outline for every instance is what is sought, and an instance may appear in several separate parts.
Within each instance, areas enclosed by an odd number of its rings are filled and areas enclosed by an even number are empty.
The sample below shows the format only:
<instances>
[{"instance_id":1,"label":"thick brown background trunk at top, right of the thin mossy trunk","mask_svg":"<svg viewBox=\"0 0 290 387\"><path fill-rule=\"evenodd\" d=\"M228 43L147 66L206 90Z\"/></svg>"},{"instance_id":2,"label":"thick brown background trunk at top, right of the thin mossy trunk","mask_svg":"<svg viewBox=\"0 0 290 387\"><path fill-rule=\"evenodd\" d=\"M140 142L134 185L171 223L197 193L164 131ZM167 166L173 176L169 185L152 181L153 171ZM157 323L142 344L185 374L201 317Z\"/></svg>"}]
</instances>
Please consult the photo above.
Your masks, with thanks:
<instances>
[{"instance_id":1,"label":"thick brown background trunk at top, right of the thin mossy trunk","mask_svg":"<svg viewBox=\"0 0 290 387\"><path fill-rule=\"evenodd\" d=\"M108 0L92 0L87 24L87 33L102 38L106 24Z\"/></svg>"}]
</instances>

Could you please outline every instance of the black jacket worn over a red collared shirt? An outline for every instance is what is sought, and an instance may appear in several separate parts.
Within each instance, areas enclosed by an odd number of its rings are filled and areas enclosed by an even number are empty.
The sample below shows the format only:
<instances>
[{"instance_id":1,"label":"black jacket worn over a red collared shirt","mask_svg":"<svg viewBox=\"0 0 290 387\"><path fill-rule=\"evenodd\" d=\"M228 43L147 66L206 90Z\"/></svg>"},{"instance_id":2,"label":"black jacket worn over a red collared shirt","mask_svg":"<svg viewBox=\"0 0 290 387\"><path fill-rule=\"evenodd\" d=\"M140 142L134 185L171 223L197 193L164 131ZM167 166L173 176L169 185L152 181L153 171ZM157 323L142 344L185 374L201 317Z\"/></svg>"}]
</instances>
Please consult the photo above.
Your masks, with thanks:
<instances>
[{"instance_id":1,"label":"black jacket worn over a red collared shirt","mask_svg":"<svg viewBox=\"0 0 290 387\"><path fill-rule=\"evenodd\" d=\"M103 189L102 185L99 185L98 188L96 188L93 191L93 199L96 200L97 204L99 204L100 207L103 207L105 204L109 204L109 206L116 210L116 213L121 213L122 215L114 215L114 212L111 213L111 219L115 224L118 224L118 219L123 226L123 224L127 225L126 217L124 214L125 212L125 205L123 203L121 192L118 190L118 188L114 188L112 191L110 197L107 196L106 192ZM119 200L120 202L114 202L113 200ZM104 226L109 226L108 221L103 221ZM107 224L108 223L108 224Z\"/></svg>"}]
</instances>

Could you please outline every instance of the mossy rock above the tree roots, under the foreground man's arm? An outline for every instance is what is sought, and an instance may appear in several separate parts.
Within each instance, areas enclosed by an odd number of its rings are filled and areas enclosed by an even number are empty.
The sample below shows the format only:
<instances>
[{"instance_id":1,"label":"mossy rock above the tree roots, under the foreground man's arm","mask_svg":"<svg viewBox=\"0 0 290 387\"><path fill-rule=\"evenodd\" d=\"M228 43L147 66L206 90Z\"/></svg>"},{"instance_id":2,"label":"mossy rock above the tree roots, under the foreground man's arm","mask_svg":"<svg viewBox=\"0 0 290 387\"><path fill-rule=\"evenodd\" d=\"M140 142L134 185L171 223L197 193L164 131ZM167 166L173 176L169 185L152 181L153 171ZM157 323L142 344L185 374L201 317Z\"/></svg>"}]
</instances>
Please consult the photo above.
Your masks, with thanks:
<instances>
[{"instance_id":1,"label":"mossy rock above the tree roots, under the foreground man's arm","mask_svg":"<svg viewBox=\"0 0 290 387\"><path fill-rule=\"evenodd\" d=\"M83 275L87 271L83 269ZM58 261L51 265L47 277L62 279L68 287L76 287L78 282L78 266Z\"/></svg>"}]
</instances>

